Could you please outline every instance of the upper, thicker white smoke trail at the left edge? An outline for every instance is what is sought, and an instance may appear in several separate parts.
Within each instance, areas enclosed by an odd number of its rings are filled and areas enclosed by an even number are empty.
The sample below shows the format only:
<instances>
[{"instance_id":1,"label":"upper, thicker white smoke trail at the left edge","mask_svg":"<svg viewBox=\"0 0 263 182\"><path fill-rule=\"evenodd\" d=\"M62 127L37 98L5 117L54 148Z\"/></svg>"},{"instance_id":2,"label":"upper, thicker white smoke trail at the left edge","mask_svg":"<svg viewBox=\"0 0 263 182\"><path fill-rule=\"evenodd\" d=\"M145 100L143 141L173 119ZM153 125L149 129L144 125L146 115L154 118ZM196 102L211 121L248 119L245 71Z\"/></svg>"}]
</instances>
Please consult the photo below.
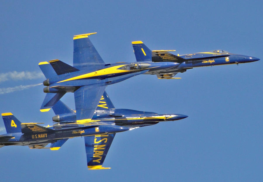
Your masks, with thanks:
<instances>
[{"instance_id":1,"label":"upper, thicker white smoke trail at the left edge","mask_svg":"<svg viewBox=\"0 0 263 182\"><path fill-rule=\"evenodd\" d=\"M44 78L44 74L42 72L29 72L29 71L22 71L22 72L7 72L7 73L0 73L0 82L8 81L8 80L25 80L25 79L38 79Z\"/></svg>"}]
</instances>

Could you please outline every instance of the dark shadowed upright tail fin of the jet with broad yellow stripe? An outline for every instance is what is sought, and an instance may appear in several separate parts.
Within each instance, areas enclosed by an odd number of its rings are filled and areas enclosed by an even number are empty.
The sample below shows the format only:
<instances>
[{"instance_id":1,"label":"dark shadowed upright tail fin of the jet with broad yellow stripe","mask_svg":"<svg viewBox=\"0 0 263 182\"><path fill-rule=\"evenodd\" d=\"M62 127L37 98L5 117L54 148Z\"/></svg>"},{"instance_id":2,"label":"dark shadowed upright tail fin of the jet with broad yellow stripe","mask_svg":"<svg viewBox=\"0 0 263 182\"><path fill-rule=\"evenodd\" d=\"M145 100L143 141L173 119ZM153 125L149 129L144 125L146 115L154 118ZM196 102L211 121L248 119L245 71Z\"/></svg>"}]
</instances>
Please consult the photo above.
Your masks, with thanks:
<instances>
[{"instance_id":1,"label":"dark shadowed upright tail fin of the jet with broad yellow stripe","mask_svg":"<svg viewBox=\"0 0 263 182\"><path fill-rule=\"evenodd\" d=\"M58 75L79 71L77 68L70 66L58 59L51 60L49 63Z\"/></svg>"}]
</instances>

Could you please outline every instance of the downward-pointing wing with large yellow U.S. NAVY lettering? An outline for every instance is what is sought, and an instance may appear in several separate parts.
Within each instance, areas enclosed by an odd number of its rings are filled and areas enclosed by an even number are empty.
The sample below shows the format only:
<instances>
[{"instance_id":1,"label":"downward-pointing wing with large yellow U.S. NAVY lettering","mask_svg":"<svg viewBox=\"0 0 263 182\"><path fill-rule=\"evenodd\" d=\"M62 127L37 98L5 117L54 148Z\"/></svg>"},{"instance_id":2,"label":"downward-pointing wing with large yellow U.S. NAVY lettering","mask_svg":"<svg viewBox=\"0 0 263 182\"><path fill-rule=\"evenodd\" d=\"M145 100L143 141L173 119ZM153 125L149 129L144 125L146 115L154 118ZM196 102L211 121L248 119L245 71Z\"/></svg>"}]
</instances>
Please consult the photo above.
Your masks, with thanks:
<instances>
[{"instance_id":1,"label":"downward-pointing wing with large yellow U.S. NAVY lettering","mask_svg":"<svg viewBox=\"0 0 263 182\"><path fill-rule=\"evenodd\" d=\"M102 167L105 157L110 149L114 134L84 136L89 169L110 169Z\"/></svg>"}]
</instances>

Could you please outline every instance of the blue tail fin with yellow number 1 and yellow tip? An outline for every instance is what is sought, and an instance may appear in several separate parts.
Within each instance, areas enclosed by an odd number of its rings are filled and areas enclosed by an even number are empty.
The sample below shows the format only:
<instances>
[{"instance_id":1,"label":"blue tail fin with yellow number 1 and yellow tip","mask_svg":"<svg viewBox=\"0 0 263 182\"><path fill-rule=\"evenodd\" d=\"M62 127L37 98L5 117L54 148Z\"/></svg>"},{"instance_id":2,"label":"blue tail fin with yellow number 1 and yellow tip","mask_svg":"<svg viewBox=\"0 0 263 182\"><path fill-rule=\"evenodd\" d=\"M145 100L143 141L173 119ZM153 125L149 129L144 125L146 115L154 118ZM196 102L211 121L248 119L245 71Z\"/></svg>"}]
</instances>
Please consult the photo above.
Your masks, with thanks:
<instances>
[{"instance_id":1,"label":"blue tail fin with yellow number 1 and yellow tip","mask_svg":"<svg viewBox=\"0 0 263 182\"><path fill-rule=\"evenodd\" d=\"M152 61L152 51L142 41L131 42L137 62Z\"/></svg>"}]
</instances>

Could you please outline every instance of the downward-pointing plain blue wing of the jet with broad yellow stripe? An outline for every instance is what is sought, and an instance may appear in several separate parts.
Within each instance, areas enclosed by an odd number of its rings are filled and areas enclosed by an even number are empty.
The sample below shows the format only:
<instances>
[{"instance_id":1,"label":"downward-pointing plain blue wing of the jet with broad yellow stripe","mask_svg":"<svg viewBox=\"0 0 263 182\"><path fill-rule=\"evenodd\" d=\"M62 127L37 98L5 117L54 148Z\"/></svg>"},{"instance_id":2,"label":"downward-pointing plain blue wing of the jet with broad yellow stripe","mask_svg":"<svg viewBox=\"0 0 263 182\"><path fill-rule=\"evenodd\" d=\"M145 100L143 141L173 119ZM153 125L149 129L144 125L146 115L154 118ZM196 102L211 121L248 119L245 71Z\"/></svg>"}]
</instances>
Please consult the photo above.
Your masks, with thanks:
<instances>
[{"instance_id":1,"label":"downward-pointing plain blue wing of the jet with broad yellow stripe","mask_svg":"<svg viewBox=\"0 0 263 182\"><path fill-rule=\"evenodd\" d=\"M89 122L106 86L86 85L74 92L77 122Z\"/></svg>"}]
</instances>

